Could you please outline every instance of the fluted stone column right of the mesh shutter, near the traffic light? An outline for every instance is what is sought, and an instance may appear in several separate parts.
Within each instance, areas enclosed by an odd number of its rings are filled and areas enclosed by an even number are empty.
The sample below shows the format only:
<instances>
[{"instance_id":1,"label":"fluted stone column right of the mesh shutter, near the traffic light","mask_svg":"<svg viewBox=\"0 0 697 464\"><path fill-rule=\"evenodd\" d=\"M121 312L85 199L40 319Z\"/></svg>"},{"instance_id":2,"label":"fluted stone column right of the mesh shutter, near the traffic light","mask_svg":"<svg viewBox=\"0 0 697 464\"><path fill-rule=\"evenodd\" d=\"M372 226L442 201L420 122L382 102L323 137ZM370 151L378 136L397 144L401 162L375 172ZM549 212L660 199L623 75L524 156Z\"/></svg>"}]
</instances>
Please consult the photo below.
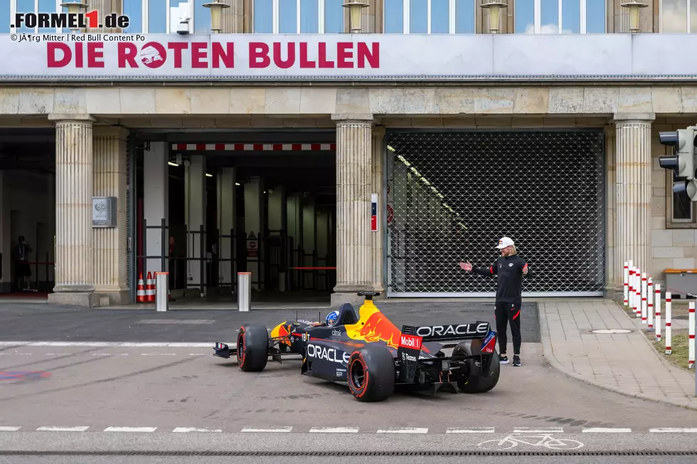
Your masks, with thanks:
<instances>
[{"instance_id":1,"label":"fluted stone column right of the mesh shutter, near the traffic light","mask_svg":"<svg viewBox=\"0 0 697 464\"><path fill-rule=\"evenodd\" d=\"M651 121L653 113L614 115L616 248L614 280L622 282L620 265L632 260L650 275L651 263Z\"/></svg>"}]
</instances>

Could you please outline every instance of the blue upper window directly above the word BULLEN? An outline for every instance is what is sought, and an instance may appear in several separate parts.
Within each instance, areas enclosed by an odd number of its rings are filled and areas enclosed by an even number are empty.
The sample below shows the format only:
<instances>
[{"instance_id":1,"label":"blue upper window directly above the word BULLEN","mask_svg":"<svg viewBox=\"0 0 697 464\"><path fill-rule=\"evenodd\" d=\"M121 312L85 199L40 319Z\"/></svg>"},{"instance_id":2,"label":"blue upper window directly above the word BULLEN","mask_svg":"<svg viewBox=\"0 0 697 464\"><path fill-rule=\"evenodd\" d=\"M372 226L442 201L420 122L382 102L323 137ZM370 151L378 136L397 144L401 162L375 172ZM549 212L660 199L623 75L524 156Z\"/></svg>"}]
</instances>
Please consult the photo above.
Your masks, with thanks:
<instances>
[{"instance_id":1,"label":"blue upper window directly above the word BULLEN","mask_svg":"<svg viewBox=\"0 0 697 464\"><path fill-rule=\"evenodd\" d=\"M255 33L344 32L344 0L254 0Z\"/></svg>"}]
</instances>

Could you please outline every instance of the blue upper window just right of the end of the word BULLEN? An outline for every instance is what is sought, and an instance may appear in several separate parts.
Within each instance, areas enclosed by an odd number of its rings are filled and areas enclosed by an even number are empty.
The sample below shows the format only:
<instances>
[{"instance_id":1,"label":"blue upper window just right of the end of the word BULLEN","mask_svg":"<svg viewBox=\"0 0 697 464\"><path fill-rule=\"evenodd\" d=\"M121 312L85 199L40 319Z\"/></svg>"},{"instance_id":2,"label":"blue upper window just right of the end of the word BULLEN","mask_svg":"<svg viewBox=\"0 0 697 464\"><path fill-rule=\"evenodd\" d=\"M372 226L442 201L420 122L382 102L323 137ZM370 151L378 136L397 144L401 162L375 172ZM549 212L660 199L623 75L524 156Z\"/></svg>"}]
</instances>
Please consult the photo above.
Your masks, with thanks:
<instances>
[{"instance_id":1,"label":"blue upper window just right of the end of the word BULLEN","mask_svg":"<svg viewBox=\"0 0 697 464\"><path fill-rule=\"evenodd\" d=\"M474 33L474 0L384 0L383 5L385 33Z\"/></svg>"}]
</instances>

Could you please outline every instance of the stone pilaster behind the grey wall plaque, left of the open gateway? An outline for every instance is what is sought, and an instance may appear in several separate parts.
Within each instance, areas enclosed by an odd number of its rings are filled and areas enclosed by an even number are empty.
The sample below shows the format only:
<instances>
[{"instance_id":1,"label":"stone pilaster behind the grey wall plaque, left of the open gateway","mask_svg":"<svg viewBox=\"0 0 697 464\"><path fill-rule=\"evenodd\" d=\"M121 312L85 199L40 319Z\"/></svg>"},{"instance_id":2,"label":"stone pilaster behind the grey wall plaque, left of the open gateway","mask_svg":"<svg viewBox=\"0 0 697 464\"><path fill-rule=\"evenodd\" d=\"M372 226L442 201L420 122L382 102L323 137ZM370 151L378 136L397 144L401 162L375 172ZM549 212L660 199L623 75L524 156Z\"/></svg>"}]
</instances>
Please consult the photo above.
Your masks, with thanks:
<instances>
[{"instance_id":1,"label":"stone pilaster behind the grey wall plaque, left of the open gateway","mask_svg":"<svg viewBox=\"0 0 697 464\"><path fill-rule=\"evenodd\" d=\"M95 127L94 196L115 196L117 226L95 228L95 292L112 305L129 302L126 281L126 137L122 127Z\"/></svg>"}]
</instances>

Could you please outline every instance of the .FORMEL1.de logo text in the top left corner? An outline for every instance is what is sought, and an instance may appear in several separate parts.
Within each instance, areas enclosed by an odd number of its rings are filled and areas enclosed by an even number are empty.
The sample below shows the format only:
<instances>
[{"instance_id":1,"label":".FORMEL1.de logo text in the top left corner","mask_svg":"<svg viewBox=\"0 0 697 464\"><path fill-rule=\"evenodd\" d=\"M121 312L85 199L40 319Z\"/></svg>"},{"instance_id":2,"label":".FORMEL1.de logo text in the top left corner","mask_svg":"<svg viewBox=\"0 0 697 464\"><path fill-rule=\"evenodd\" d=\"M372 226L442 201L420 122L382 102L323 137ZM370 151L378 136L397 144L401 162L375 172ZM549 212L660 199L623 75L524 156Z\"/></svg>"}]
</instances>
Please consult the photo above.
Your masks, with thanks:
<instances>
[{"instance_id":1,"label":".FORMEL1.de logo text in the top left corner","mask_svg":"<svg viewBox=\"0 0 697 464\"><path fill-rule=\"evenodd\" d=\"M116 13L104 16L104 21L100 21L97 10L89 13L16 13L14 24L10 27L21 28L63 28L63 29L96 29L96 28L127 28L129 26L128 16Z\"/></svg>"}]
</instances>

